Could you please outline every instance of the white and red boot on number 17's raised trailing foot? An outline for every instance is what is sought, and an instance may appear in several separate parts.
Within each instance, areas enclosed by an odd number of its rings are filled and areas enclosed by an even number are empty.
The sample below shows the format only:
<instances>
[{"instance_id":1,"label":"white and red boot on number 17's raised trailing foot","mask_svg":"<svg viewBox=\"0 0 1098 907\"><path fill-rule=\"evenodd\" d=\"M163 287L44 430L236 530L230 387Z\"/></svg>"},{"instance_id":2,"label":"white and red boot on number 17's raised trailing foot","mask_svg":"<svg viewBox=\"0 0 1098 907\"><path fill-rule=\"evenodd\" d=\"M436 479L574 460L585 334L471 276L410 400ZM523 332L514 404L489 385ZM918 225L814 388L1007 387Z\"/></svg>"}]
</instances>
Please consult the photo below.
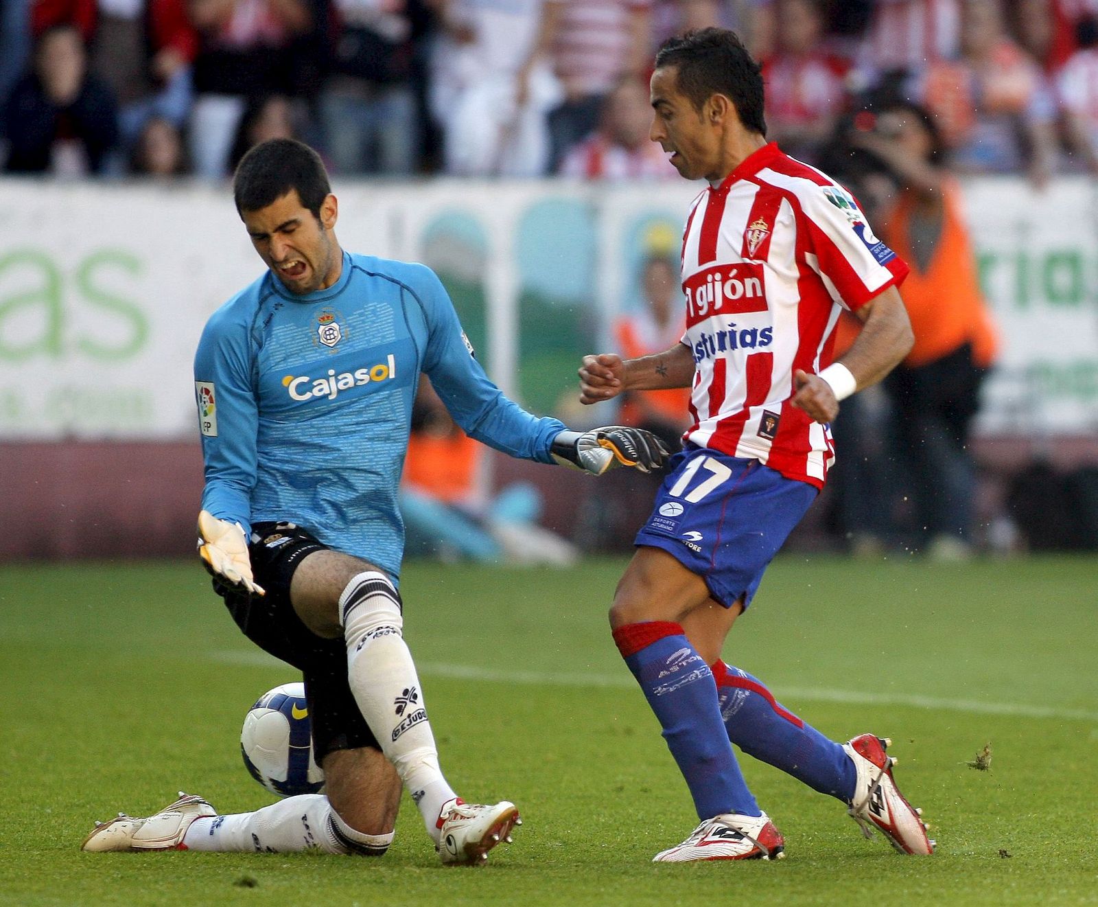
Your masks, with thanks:
<instances>
[{"instance_id":1,"label":"white and red boot on number 17's raised trailing foot","mask_svg":"<svg viewBox=\"0 0 1098 907\"><path fill-rule=\"evenodd\" d=\"M858 769L858 784L848 813L866 838L872 838L872 829L877 828L900 853L929 855L934 852L934 842L927 838L922 810L904 799L896 786L892 774L896 760L885 755L889 743L887 737L863 734L842 744Z\"/></svg>"}]
</instances>

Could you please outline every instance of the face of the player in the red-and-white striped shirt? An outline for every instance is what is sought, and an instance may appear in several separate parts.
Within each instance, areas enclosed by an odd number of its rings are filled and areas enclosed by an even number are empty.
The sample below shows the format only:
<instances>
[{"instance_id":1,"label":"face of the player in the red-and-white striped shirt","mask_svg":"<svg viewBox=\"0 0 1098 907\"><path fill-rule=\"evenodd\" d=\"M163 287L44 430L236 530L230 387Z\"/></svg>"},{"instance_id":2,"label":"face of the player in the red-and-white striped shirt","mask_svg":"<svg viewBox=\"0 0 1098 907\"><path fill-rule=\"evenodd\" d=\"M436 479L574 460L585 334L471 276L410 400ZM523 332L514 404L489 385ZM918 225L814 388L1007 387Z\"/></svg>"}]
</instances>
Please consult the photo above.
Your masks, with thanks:
<instances>
[{"instance_id":1,"label":"face of the player in the red-and-white striped shirt","mask_svg":"<svg viewBox=\"0 0 1098 907\"><path fill-rule=\"evenodd\" d=\"M664 66L652 74L650 100L652 127L648 137L668 152L671 164L685 179L718 180L720 172L719 131L706 122L691 100L679 91L679 71Z\"/></svg>"}]
</instances>

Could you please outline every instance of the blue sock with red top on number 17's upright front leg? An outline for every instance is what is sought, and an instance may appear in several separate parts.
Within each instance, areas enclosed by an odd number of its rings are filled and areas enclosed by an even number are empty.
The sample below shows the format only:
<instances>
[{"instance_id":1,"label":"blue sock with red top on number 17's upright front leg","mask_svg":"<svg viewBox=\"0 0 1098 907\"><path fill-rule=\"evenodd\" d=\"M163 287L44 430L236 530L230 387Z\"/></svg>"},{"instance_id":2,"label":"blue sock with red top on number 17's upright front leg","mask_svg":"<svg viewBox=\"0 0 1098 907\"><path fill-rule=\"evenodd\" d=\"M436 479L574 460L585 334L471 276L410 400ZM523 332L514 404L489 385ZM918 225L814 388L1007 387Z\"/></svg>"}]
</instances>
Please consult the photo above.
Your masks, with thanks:
<instances>
[{"instance_id":1,"label":"blue sock with red top on number 17's upright front leg","mask_svg":"<svg viewBox=\"0 0 1098 907\"><path fill-rule=\"evenodd\" d=\"M614 641L663 727L698 818L761 816L725 735L717 687L705 660L677 624L629 624Z\"/></svg>"}]
</instances>

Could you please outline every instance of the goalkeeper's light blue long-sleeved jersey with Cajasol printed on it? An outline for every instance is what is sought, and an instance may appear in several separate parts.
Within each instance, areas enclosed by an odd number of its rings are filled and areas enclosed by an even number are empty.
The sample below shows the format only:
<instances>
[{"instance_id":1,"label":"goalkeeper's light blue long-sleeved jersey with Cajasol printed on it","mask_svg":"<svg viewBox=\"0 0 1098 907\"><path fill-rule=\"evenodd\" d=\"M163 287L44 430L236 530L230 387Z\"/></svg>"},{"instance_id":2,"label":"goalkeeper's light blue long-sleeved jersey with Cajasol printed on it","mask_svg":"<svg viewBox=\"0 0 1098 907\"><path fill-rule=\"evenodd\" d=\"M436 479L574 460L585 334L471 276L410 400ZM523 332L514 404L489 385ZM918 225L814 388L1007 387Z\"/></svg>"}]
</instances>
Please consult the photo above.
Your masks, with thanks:
<instances>
[{"instance_id":1,"label":"goalkeeper's light blue long-sleeved jersey with Cajasol printed on it","mask_svg":"<svg viewBox=\"0 0 1098 907\"><path fill-rule=\"evenodd\" d=\"M245 527L296 523L399 575L421 372L468 435L552 462L564 426L489 380L429 268L344 253L336 284L300 296L268 271L211 316L194 357L203 508Z\"/></svg>"}]
</instances>

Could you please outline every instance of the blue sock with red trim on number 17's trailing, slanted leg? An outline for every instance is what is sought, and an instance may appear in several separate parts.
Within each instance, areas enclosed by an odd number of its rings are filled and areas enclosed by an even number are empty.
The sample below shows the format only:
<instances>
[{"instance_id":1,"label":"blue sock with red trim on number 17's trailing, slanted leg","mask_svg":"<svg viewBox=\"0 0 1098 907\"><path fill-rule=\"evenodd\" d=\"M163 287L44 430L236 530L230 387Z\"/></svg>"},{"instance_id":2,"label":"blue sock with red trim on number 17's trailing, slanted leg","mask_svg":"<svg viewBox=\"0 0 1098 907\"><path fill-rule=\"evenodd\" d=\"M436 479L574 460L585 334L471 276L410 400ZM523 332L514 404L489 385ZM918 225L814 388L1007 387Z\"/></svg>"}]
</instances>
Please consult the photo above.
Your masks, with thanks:
<instances>
[{"instance_id":1,"label":"blue sock with red trim on number 17's trailing, slanted leg","mask_svg":"<svg viewBox=\"0 0 1098 907\"><path fill-rule=\"evenodd\" d=\"M718 661L713 675L729 740L814 791L850 802L858 775L840 743L783 708L761 682L739 668Z\"/></svg>"}]
</instances>

